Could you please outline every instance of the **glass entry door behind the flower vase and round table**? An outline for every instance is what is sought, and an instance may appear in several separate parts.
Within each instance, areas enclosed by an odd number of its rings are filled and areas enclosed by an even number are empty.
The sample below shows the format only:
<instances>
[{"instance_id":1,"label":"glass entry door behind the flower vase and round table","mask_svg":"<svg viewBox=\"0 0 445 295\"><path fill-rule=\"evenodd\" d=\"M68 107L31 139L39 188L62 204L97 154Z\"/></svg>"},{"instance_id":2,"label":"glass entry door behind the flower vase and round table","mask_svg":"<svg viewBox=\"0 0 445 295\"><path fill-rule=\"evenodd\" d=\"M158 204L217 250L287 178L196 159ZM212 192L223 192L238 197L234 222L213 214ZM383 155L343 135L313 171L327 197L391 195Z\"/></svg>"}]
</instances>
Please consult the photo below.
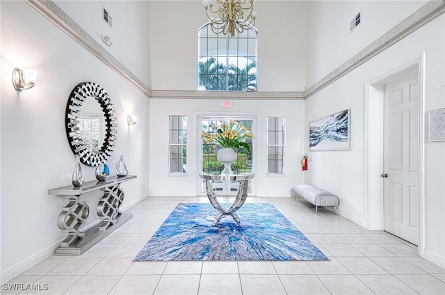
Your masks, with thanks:
<instances>
[{"instance_id":1,"label":"glass entry door behind the flower vase and round table","mask_svg":"<svg viewBox=\"0 0 445 295\"><path fill-rule=\"evenodd\" d=\"M202 131L213 134L215 133L215 129L213 127L220 125L222 122L225 122L229 125L230 120L241 122L245 127L247 127L252 134L254 134L254 118L245 118L245 117L198 117L198 127L200 128L199 134L202 134ZM240 173L254 173L254 164L253 164L253 154L254 147L252 145L252 140L248 141L250 145L250 151L241 150L237 151L238 157L234 164L232 164L232 170L235 174ZM205 143L204 139L200 137L200 157L198 157L198 161L200 161L198 167L200 169L200 173L206 174L220 174L223 170L224 166L218 161L217 155L220 151L221 147L215 143ZM200 193L205 193L205 180L200 179ZM253 180L251 180L252 182ZM214 182L213 187L215 189L215 193L218 196L236 196L236 192L238 191L238 182ZM252 192L253 185L250 185L250 193Z\"/></svg>"}]
</instances>

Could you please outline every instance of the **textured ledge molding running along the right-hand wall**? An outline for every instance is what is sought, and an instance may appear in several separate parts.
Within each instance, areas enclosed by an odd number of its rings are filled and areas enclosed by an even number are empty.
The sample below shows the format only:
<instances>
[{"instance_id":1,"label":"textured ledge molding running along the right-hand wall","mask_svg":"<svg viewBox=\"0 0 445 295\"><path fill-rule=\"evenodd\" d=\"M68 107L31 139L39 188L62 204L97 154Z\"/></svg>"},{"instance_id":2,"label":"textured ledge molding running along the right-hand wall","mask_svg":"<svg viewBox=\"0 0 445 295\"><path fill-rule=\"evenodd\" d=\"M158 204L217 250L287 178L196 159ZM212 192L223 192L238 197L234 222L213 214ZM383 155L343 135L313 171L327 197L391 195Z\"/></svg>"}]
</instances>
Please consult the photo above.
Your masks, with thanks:
<instances>
[{"instance_id":1,"label":"textured ledge molding running along the right-hand wall","mask_svg":"<svg viewBox=\"0 0 445 295\"><path fill-rule=\"evenodd\" d=\"M343 63L337 69L327 74L323 79L316 82L313 86L307 88L305 91L305 99L311 97L318 91L322 90L326 86L330 85L334 81L340 79L344 75L351 72L359 65L362 65L366 61L380 54L391 45L394 45L399 40L405 38L410 33L416 31L424 24L430 22L435 17L442 15L445 12L445 0L432 0L426 3L424 6L414 11L410 16L403 19L394 28L387 31L380 38L373 41L370 45L365 47L358 54L355 54L346 63Z\"/></svg>"}]
</instances>

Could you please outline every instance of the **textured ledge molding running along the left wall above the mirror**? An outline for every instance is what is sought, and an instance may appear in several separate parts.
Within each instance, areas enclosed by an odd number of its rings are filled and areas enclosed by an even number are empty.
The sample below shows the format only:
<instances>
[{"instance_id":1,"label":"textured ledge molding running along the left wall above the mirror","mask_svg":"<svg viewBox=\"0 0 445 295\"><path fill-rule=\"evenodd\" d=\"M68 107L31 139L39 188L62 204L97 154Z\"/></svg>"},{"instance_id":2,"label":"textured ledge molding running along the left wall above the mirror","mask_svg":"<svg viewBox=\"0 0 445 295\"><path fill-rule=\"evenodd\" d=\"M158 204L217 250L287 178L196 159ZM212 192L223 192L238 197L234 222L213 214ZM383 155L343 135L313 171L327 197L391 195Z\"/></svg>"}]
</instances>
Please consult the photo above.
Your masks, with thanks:
<instances>
[{"instance_id":1,"label":"textured ledge molding running along the left wall above the mirror","mask_svg":"<svg viewBox=\"0 0 445 295\"><path fill-rule=\"evenodd\" d=\"M133 86L138 88L144 95L149 97L150 89L138 79L130 70L120 61L110 54L102 45L99 44L91 35L79 26L74 20L61 10L56 3L51 0L25 0L35 10L47 17L56 24L62 31L70 35L71 38L79 42L80 45L88 49L100 61L111 67L112 70L127 79Z\"/></svg>"}]
</instances>

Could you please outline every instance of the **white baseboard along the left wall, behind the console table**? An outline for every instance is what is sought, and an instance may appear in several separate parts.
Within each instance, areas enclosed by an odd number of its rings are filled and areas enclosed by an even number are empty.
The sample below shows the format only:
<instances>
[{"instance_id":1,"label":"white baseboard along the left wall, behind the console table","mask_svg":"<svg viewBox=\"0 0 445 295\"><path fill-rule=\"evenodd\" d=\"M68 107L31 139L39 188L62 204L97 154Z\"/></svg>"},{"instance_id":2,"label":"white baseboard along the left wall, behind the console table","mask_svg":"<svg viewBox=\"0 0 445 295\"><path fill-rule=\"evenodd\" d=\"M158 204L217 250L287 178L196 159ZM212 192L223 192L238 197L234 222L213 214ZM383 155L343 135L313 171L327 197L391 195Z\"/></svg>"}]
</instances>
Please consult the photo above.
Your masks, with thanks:
<instances>
[{"instance_id":1,"label":"white baseboard along the left wall, behind the console table","mask_svg":"<svg viewBox=\"0 0 445 295\"><path fill-rule=\"evenodd\" d=\"M88 230L88 229L94 227L95 225L98 225L101 222L102 221L99 219L99 220L87 225L85 228L82 228L81 230L82 231ZM28 269L31 269L33 266L39 264L43 260L51 257L52 255L55 255L56 249L58 247L60 247L60 243L62 243L64 239L65 239L65 237L63 239L60 239L59 241L56 241L56 243L51 244L49 247L44 248L39 253L23 260L22 262L15 264L15 266L12 266L9 269L6 269L6 271L3 271L0 276L1 284L4 284L4 283L8 282L9 280L12 280L16 276L21 275Z\"/></svg>"}]
</instances>

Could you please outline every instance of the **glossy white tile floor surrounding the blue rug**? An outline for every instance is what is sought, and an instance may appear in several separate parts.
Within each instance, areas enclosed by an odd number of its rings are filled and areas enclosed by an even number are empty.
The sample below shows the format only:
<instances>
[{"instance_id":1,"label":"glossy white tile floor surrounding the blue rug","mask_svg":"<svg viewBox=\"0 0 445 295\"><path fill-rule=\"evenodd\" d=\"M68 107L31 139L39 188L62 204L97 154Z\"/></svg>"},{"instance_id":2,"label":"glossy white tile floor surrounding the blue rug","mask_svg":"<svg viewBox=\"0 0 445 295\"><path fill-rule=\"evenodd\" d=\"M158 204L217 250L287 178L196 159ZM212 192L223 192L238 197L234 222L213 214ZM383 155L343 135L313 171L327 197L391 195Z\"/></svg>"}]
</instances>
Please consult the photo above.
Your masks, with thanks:
<instances>
[{"instance_id":1,"label":"glossy white tile floor surrounding the blue rug","mask_svg":"<svg viewBox=\"0 0 445 295\"><path fill-rule=\"evenodd\" d=\"M208 200L147 198L83 255L54 255L10 281L47 290L1 294L445 294L444 269L418 257L416 246L324 208L315 216L300 198L248 202L273 203L330 261L132 262L179 202Z\"/></svg>"}]
</instances>

